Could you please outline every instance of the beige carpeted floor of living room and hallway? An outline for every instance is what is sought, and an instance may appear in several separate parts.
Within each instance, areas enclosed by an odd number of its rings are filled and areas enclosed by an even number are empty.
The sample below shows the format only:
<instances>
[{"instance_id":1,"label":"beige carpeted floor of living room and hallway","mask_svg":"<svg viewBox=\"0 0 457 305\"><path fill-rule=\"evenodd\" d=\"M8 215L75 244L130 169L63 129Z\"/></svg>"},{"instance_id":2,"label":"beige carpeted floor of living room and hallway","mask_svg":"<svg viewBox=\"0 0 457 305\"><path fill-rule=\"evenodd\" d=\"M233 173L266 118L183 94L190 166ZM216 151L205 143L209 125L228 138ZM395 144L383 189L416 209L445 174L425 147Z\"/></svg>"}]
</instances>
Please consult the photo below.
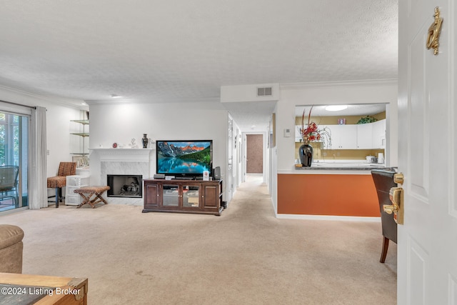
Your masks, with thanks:
<instances>
[{"instance_id":1,"label":"beige carpeted floor of living room and hallway","mask_svg":"<svg viewBox=\"0 0 457 305\"><path fill-rule=\"evenodd\" d=\"M396 304L381 224L276 219L261 178L221 216L61 205L0 216L25 231L24 274L89 278L89 304Z\"/></svg>"}]
</instances>

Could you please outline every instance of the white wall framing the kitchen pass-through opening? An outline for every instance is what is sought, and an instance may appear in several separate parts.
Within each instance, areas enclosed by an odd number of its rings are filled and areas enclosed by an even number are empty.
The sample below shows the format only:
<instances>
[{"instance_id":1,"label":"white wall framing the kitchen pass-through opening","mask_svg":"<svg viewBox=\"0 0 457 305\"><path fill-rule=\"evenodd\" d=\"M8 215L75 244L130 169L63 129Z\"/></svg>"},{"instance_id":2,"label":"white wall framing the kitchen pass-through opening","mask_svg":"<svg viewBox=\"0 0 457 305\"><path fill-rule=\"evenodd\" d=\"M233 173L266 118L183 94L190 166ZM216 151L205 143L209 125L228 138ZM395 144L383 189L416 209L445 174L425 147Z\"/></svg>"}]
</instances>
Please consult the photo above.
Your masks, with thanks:
<instances>
[{"instance_id":1,"label":"white wall framing the kitchen pass-through opening","mask_svg":"<svg viewBox=\"0 0 457 305\"><path fill-rule=\"evenodd\" d=\"M278 152L278 171L293 171L295 158L294 138L284 137L284 129L295 129L296 105L319 104L389 104L391 114L396 114L397 84L396 81L353 82L346 84L307 84L281 86L281 99L276 111L276 145ZM387 115L389 115L387 111ZM388 166L397 166L396 126L398 118L388 118L387 129L390 139L386 161Z\"/></svg>"}]
</instances>

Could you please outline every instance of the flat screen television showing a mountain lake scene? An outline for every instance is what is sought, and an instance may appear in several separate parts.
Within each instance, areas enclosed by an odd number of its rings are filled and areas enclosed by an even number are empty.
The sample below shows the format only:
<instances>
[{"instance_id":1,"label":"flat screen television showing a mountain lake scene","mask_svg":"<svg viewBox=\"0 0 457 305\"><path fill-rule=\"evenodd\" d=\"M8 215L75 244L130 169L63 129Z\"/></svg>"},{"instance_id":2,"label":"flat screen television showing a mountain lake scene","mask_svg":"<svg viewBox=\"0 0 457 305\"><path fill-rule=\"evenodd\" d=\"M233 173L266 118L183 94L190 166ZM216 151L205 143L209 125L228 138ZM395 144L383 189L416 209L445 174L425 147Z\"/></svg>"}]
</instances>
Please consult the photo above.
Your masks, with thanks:
<instances>
[{"instance_id":1,"label":"flat screen television showing a mountain lake scene","mask_svg":"<svg viewBox=\"0 0 457 305\"><path fill-rule=\"evenodd\" d=\"M157 174L176 178L203 177L213 168L213 141L156 141Z\"/></svg>"}]
</instances>

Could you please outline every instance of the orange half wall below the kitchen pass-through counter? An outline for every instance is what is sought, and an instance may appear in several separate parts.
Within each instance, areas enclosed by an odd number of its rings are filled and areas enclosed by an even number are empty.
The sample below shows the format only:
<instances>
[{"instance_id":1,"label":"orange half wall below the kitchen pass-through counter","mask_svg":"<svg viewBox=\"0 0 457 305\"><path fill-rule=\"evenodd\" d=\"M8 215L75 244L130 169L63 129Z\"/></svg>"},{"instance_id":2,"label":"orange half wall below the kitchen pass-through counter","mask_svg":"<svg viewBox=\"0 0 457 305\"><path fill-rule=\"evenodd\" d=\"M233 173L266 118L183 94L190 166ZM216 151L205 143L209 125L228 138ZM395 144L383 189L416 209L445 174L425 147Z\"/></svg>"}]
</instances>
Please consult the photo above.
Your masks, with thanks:
<instances>
[{"instance_id":1,"label":"orange half wall below the kitchen pass-through counter","mask_svg":"<svg viewBox=\"0 0 457 305\"><path fill-rule=\"evenodd\" d=\"M278 174L278 214L379 217L371 175Z\"/></svg>"}]
</instances>

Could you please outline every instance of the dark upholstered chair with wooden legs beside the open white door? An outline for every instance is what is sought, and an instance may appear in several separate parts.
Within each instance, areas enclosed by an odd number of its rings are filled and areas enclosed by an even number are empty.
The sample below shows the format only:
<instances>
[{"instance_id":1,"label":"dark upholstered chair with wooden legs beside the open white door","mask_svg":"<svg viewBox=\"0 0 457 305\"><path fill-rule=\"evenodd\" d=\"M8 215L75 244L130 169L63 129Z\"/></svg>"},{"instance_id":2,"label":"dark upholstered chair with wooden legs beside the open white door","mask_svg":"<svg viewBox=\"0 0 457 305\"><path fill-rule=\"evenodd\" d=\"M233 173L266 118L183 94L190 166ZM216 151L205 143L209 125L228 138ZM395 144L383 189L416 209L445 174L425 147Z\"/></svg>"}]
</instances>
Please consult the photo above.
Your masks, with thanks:
<instances>
[{"instance_id":1,"label":"dark upholstered chair with wooden legs beside the open white door","mask_svg":"<svg viewBox=\"0 0 457 305\"><path fill-rule=\"evenodd\" d=\"M381 169L373 169L371 176L373 177L374 185L376 186L376 193L378 194L379 210L381 211L381 226L383 231L383 250L381 252L381 263L386 261L388 241L391 240L397 243L397 224L393 220L393 214L387 214L383 205L391 205L388 193L392 187L397 186L393 182L393 174L395 171L384 171Z\"/></svg>"}]
</instances>

